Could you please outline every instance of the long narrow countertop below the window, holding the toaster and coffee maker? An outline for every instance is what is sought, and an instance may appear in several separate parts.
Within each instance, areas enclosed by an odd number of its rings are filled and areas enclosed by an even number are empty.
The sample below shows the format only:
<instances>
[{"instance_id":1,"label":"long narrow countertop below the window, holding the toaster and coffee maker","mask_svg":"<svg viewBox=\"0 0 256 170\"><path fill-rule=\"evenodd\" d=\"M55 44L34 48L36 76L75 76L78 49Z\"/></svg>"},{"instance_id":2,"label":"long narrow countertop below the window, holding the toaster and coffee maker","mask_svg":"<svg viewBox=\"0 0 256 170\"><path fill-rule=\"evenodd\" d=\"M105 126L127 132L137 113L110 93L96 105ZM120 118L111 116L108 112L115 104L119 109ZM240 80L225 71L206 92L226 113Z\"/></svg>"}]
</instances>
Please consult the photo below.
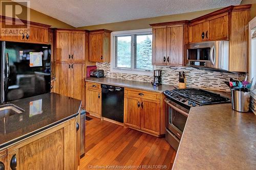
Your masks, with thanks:
<instances>
[{"instance_id":1,"label":"long narrow countertop below the window, holding the toaster and coffee maker","mask_svg":"<svg viewBox=\"0 0 256 170\"><path fill-rule=\"evenodd\" d=\"M140 82L133 80L123 80L123 79L114 79L114 78L86 78L85 81L99 84L107 84L113 86L121 86L139 90L146 91L155 91L155 92L163 92L165 90L173 90L175 89L173 85L162 84L160 86L153 86L149 82Z\"/></svg>"}]
</instances>

